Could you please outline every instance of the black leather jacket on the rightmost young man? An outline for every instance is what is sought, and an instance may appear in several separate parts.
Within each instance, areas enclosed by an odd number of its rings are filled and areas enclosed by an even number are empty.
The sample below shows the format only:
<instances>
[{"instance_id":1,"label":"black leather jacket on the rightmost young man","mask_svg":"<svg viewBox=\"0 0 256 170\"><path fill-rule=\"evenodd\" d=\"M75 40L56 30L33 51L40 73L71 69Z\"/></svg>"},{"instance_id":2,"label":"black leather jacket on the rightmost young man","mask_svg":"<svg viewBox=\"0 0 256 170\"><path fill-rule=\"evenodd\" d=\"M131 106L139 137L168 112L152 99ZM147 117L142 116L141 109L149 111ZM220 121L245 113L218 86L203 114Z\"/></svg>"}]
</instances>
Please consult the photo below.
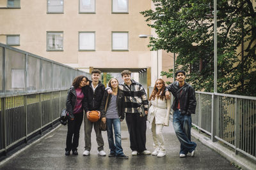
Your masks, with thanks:
<instances>
[{"instance_id":1,"label":"black leather jacket on the rightmost young man","mask_svg":"<svg viewBox=\"0 0 256 170\"><path fill-rule=\"evenodd\" d=\"M194 88L186 83L184 86L179 87L179 81L175 81L168 87L172 92L174 98L172 109L177 110L178 103L180 101L180 113L181 114L195 114L196 111L196 97Z\"/></svg>"}]
</instances>

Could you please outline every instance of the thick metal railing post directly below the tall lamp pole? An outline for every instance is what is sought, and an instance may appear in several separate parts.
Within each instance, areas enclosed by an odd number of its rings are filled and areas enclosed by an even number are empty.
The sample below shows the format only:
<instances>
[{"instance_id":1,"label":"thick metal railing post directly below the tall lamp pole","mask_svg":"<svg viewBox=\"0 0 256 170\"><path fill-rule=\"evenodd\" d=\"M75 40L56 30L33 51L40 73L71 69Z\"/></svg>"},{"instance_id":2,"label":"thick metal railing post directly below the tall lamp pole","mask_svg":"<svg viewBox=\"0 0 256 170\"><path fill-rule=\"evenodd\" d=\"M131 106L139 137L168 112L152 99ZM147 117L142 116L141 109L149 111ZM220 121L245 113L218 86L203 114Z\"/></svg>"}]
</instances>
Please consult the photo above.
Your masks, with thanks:
<instances>
[{"instance_id":1,"label":"thick metal railing post directly below the tall lamp pole","mask_svg":"<svg viewBox=\"0 0 256 170\"><path fill-rule=\"evenodd\" d=\"M217 141L214 136L217 134L217 114L218 114L218 108L217 108L217 96L215 94L212 94L212 112L211 112L211 140L212 142Z\"/></svg>"}]
</instances>

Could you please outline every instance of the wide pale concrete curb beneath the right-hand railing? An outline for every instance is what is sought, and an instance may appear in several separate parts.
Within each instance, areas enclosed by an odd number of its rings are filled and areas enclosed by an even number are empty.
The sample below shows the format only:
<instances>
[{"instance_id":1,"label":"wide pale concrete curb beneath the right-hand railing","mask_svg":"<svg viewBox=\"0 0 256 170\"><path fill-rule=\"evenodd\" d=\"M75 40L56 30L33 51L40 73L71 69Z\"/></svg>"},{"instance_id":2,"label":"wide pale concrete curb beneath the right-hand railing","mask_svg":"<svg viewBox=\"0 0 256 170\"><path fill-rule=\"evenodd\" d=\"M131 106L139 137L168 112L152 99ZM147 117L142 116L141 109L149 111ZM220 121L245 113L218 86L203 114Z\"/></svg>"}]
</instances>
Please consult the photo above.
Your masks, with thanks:
<instances>
[{"instance_id":1,"label":"wide pale concrete curb beneath the right-hand railing","mask_svg":"<svg viewBox=\"0 0 256 170\"><path fill-rule=\"evenodd\" d=\"M211 139L196 131L195 129L191 129L191 135L202 142L205 146L208 146L212 150L220 153L223 157L225 157L230 162L234 163L236 166L241 167L241 169L256 169L256 163L253 160L249 160L242 154L237 154L231 148L227 146L223 146L220 142L212 142Z\"/></svg>"}]
</instances>

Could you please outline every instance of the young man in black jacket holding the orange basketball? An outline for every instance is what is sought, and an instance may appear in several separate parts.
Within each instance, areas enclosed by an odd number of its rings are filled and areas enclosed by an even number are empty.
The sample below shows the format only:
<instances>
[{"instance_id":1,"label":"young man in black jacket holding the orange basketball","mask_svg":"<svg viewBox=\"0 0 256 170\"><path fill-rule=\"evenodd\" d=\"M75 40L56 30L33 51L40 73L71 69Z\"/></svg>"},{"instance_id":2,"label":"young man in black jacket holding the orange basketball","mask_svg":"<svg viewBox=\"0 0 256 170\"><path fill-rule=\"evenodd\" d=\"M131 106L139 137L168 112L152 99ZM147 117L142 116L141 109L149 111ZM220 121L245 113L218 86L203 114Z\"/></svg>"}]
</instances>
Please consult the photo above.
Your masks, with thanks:
<instances>
[{"instance_id":1,"label":"young man in black jacket holding the orange basketball","mask_svg":"<svg viewBox=\"0 0 256 170\"><path fill-rule=\"evenodd\" d=\"M89 85L86 85L86 106L84 108L86 116L84 116L84 143L85 150L83 155L90 155L90 150L92 147L91 143L91 133L92 127L94 127L94 131L96 134L96 141L98 143L98 154L101 156L106 156L106 152L104 152L104 141L102 138L102 134L100 131L100 121L90 122L88 120L89 113L93 110L98 111L100 116L100 104L102 101L102 97L104 96L105 86L99 81L100 70L93 69L92 71L92 81L90 81Z\"/></svg>"}]
</instances>

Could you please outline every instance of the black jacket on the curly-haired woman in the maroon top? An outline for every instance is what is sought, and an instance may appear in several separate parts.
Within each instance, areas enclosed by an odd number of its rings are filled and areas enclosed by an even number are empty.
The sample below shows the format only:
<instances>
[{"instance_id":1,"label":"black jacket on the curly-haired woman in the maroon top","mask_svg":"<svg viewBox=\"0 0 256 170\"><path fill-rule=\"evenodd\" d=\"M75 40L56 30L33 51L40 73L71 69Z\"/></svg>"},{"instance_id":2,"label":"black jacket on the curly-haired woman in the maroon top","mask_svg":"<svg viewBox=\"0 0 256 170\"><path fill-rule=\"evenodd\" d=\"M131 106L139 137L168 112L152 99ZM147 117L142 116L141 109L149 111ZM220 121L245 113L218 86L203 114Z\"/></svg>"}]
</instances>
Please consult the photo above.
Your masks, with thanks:
<instances>
[{"instance_id":1,"label":"black jacket on the curly-haired woman in the maroon top","mask_svg":"<svg viewBox=\"0 0 256 170\"><path fill-rule=\"evenodd\" d=\"M86 106L86 99L85 99L85 89L82 88L82 92L84 94L84 99L82 101L82 106L83 108ZM66 109L68 111L68 116L70 118L74 118L73 110L76 105L76 89L74 86L70 87L68 90L68 96L67 96L67 101L66 101Z\"/></svg>"}]
</instances>

